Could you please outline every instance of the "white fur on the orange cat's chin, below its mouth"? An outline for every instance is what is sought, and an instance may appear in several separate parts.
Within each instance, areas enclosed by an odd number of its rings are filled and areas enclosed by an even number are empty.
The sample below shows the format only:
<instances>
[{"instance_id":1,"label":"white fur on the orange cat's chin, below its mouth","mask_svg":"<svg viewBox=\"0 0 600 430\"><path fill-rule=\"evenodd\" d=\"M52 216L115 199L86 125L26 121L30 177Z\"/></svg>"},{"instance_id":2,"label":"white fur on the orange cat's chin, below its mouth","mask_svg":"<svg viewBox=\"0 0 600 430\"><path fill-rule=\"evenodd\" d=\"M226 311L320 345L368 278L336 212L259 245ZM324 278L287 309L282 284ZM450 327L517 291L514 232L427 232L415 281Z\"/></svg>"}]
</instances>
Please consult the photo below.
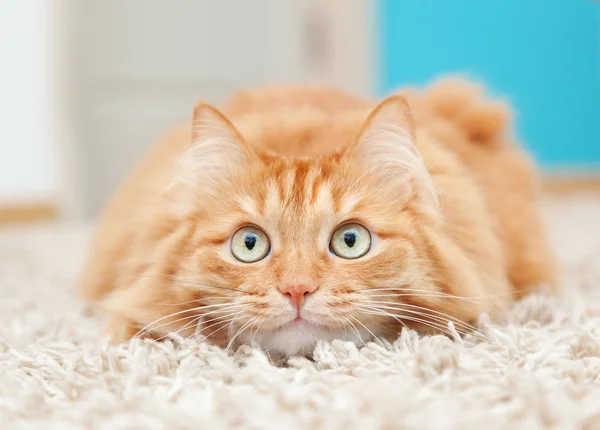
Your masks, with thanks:
<instances>
[{"instance_id":1,"label":"white fur on the orange cat's chin, below its mouth","mask_svg":"<svg viewBox=\"0 0 600 430\"><path fill-rule=\"evenodd\" d=\"M244 333L241 340L243 343L256 342L269 353L290 357L311 354L319 340L340 339L359 344L371 337L366 331L359 330L359 333L360 337L352 328L330 329L309 323L289 323L277 330Z\"/></svg>"}]
</instances>

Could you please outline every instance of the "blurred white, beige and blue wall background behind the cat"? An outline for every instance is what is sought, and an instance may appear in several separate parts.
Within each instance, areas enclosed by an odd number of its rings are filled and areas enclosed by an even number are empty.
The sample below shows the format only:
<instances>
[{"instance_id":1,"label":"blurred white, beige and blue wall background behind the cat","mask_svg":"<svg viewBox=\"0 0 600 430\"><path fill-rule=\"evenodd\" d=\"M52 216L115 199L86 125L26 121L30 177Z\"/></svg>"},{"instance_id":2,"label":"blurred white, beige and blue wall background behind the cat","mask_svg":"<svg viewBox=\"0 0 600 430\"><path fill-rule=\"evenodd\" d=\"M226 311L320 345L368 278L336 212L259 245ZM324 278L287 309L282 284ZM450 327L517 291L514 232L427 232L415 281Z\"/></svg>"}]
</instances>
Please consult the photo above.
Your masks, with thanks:
<instances>
[{"instance_id":1,"label":"blurred white, beige and blue wall background behind the cat","mask_svg":"<svg viewBox=\"0 0 600 430\"><path fill-rule=\"evenodd\" d=\"M512 102L548 183L600 189L592 0L0 0L0 223L93 218L198 99L447 73Z\"/></svg>"}]
</instances>

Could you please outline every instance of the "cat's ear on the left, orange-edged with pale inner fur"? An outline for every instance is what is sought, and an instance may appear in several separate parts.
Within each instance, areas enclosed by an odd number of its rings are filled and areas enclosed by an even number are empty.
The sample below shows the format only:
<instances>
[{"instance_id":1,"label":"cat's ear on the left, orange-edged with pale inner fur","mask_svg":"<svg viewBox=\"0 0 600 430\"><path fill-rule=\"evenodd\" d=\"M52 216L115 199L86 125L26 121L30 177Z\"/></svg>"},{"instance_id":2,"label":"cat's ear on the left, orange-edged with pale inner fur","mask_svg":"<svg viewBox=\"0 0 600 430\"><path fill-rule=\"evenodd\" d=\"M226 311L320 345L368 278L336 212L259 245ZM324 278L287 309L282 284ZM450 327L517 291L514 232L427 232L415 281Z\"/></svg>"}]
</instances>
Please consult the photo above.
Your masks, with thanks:
<instances>
[{"instance_id":1,"label":"cat's ear on the left, orange-edged with pale inner fur","mask_svg":"<svg viewBox=\"0 0 600 430\"><path fill-rule=\"evenodd\" d=\"M169 205L178 215L193 210L200 198L216 196L250 163L252 150L235 126L213 106L194 109L191 145L175 167L167 189Z\"/></svg>"}]
</instances>

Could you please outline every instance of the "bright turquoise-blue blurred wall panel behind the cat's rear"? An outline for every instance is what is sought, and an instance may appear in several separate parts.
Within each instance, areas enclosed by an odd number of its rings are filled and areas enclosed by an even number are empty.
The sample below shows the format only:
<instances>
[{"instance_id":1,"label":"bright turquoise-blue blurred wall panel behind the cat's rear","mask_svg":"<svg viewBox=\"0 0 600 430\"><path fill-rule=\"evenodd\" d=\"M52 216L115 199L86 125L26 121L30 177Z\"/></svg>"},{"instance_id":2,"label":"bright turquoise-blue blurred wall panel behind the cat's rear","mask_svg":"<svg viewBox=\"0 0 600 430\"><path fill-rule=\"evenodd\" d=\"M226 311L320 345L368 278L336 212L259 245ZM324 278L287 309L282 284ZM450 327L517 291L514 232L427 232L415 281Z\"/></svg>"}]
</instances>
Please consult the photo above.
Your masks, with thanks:
<instances>
[{"instance_id":1,"label":"bright turquoise-blue blurred wall panel behind the cat's rear","mask_svg":"<svg viewBox=\"0 0 600 430\"><path fill-rule=\"evenodd\" d=\"M547 169L600 168L600 6L591 0L379 0L379 93L442 73L517 111Z\"/></svg>"}]
</instances>

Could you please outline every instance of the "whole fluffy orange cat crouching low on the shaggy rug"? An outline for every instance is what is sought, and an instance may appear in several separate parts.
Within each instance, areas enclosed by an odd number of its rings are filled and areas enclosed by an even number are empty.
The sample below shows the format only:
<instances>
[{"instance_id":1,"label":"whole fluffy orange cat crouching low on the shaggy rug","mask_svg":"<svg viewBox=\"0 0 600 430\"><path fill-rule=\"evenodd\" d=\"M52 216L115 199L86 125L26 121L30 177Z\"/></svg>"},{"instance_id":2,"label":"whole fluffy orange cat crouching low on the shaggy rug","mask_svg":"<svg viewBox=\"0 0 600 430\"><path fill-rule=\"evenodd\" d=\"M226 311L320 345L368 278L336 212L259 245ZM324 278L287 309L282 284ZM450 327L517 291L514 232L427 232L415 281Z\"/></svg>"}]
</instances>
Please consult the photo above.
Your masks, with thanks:
<instances>
[{"instance_id":1,"label":"whole fluffy orange cat crouching low on the shaggy rug","mask_svg":"<svg viewBox=\"0 0 600 430\"><path fill-rule=\"evenodd\" d=\"M154 147L107 207L85 296L114 314L116 341L151 324L144 334L291 355L404 324L466 328L551 286L533 167L506 107L478 91L405 94L414 124L401 97L373 111L326 88L240 93L222 110L233 126L200 105L192 131ZM355 258L359 236L369 248Z\"/></svg>"}]
</instances>

